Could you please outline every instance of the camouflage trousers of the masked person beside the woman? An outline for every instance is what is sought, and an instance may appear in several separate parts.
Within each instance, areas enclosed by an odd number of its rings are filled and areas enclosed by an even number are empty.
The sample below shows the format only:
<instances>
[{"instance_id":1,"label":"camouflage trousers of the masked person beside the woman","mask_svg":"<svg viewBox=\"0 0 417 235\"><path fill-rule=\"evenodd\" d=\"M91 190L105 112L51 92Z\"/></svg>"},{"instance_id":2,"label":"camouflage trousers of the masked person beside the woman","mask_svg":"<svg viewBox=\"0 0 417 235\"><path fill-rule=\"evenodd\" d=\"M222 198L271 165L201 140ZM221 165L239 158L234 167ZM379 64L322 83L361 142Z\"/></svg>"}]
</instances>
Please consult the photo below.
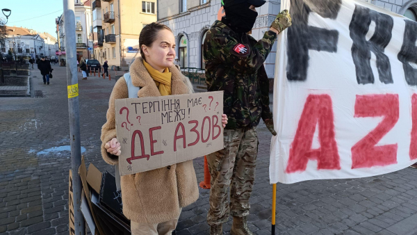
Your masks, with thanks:
<instances>
[{"instance_id":1,"label":"camouflage trousers of the masked person beside the woman","mask_svg":"<svg viewBox=\"0 0 417 235\"><path fill-rule=\"evenodd\" d=\"M224 149L206 156L211 175L208 225L227 222L229 213L237 217L249 215L257 154L256 127L224 129ZM230 204L227 201L229 186Z\"/></svg>"}]
</instances>

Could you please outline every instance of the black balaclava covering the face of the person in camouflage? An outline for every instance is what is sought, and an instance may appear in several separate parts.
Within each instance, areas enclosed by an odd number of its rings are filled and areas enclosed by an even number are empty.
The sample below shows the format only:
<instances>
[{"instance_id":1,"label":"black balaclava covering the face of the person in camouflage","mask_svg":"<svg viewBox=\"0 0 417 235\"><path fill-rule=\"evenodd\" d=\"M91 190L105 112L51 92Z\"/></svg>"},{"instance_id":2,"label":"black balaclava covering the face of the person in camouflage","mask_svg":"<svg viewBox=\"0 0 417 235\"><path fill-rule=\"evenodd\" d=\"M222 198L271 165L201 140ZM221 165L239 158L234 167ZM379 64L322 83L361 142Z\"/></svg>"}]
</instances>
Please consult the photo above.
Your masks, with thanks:
<instances>
[{"instance_id":1,"label":"black balaclava covering the face of the person in camouflage","mask_svg":"<svg viewBox=\"0 0 417 235\"><path fill-rule=\"evenodd\" d=\"M251 3L238 3L234 6L224 7L226 15L222 22L228 24L236 33L247 33L255 24L258 13L250 9Z\"/></svg>"}]
</instances>

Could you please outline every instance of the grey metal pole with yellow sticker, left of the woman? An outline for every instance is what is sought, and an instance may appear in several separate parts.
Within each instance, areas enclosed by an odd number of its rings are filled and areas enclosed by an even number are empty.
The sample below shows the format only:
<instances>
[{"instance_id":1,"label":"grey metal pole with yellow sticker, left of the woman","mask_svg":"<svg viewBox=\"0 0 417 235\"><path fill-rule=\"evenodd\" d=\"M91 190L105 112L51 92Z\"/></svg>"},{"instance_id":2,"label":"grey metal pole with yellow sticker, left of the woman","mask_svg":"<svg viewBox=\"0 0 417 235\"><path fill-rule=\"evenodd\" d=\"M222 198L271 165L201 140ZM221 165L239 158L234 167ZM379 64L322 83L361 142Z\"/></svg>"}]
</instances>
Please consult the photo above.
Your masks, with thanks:
<instances>
[{"instance_id":1,"label":"grey metal pole with yellow sticker, left of the woman","mask_svg":"<svg viewBox=\"0 0 417 235\"><path fill-rule=\"evenodd\" d=\"M64 29L65 29L65 51L67 54L67 91L68 110L70 113L70 142L71 142L71 168L72 186L74 195L74 224L75 234L83 235L85 232L85 221L81 213L81 178L79 172L81 165L81 135L80 135L80 106L78 78L76 73L76 40L75 40L75 15L74 0L63 0L64 4Z\"/></svg>"}]
</instances>

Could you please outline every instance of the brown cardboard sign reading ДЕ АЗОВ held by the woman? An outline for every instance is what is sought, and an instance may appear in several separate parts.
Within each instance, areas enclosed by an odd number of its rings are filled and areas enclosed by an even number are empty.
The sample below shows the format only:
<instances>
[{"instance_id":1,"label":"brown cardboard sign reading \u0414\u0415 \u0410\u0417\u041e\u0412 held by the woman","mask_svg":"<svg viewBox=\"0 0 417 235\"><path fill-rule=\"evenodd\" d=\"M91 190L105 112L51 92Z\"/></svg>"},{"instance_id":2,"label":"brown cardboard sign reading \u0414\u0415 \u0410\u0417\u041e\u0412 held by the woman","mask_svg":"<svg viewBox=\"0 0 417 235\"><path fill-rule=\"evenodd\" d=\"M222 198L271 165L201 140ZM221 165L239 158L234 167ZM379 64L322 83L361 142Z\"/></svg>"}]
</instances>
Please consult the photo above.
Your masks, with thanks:
<instances>
[{"instance_id":1,"label":"brown cardboard sign reading \u0414\u0415 \u0410\u0417\u041e\u0412 held by the woman","mask_svg":"<svg viewBox=\"0 0 417 235\"><path fill-rule=\"evenodd\" d=\"M223 148L223 92L116 99L120 175L163 168Z\"/></svg>"}]
</instances>

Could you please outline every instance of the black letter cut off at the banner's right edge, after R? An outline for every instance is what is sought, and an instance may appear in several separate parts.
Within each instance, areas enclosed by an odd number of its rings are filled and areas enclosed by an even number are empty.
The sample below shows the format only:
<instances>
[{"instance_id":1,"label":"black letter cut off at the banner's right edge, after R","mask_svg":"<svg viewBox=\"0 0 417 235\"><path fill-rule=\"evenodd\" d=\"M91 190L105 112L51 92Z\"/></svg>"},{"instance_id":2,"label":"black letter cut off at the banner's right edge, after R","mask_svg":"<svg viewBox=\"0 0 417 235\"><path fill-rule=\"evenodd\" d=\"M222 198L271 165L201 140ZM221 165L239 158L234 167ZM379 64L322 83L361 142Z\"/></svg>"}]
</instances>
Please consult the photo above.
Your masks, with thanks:
<instances>
[{"instance_id":1,"label":"black letter cut off at the banner's right edge, after R","mask_svg":"<svg viewBox=\"0 0 417 235\"><path fill-rule=\"evenodd\" d=\"M417 69L411 67L409 63L417 64L417 24L405 19L404 42L398 54L398 60L402 62L404 68L405 81L411 86L417 86Z\"/></svg>"}]
</instances>

